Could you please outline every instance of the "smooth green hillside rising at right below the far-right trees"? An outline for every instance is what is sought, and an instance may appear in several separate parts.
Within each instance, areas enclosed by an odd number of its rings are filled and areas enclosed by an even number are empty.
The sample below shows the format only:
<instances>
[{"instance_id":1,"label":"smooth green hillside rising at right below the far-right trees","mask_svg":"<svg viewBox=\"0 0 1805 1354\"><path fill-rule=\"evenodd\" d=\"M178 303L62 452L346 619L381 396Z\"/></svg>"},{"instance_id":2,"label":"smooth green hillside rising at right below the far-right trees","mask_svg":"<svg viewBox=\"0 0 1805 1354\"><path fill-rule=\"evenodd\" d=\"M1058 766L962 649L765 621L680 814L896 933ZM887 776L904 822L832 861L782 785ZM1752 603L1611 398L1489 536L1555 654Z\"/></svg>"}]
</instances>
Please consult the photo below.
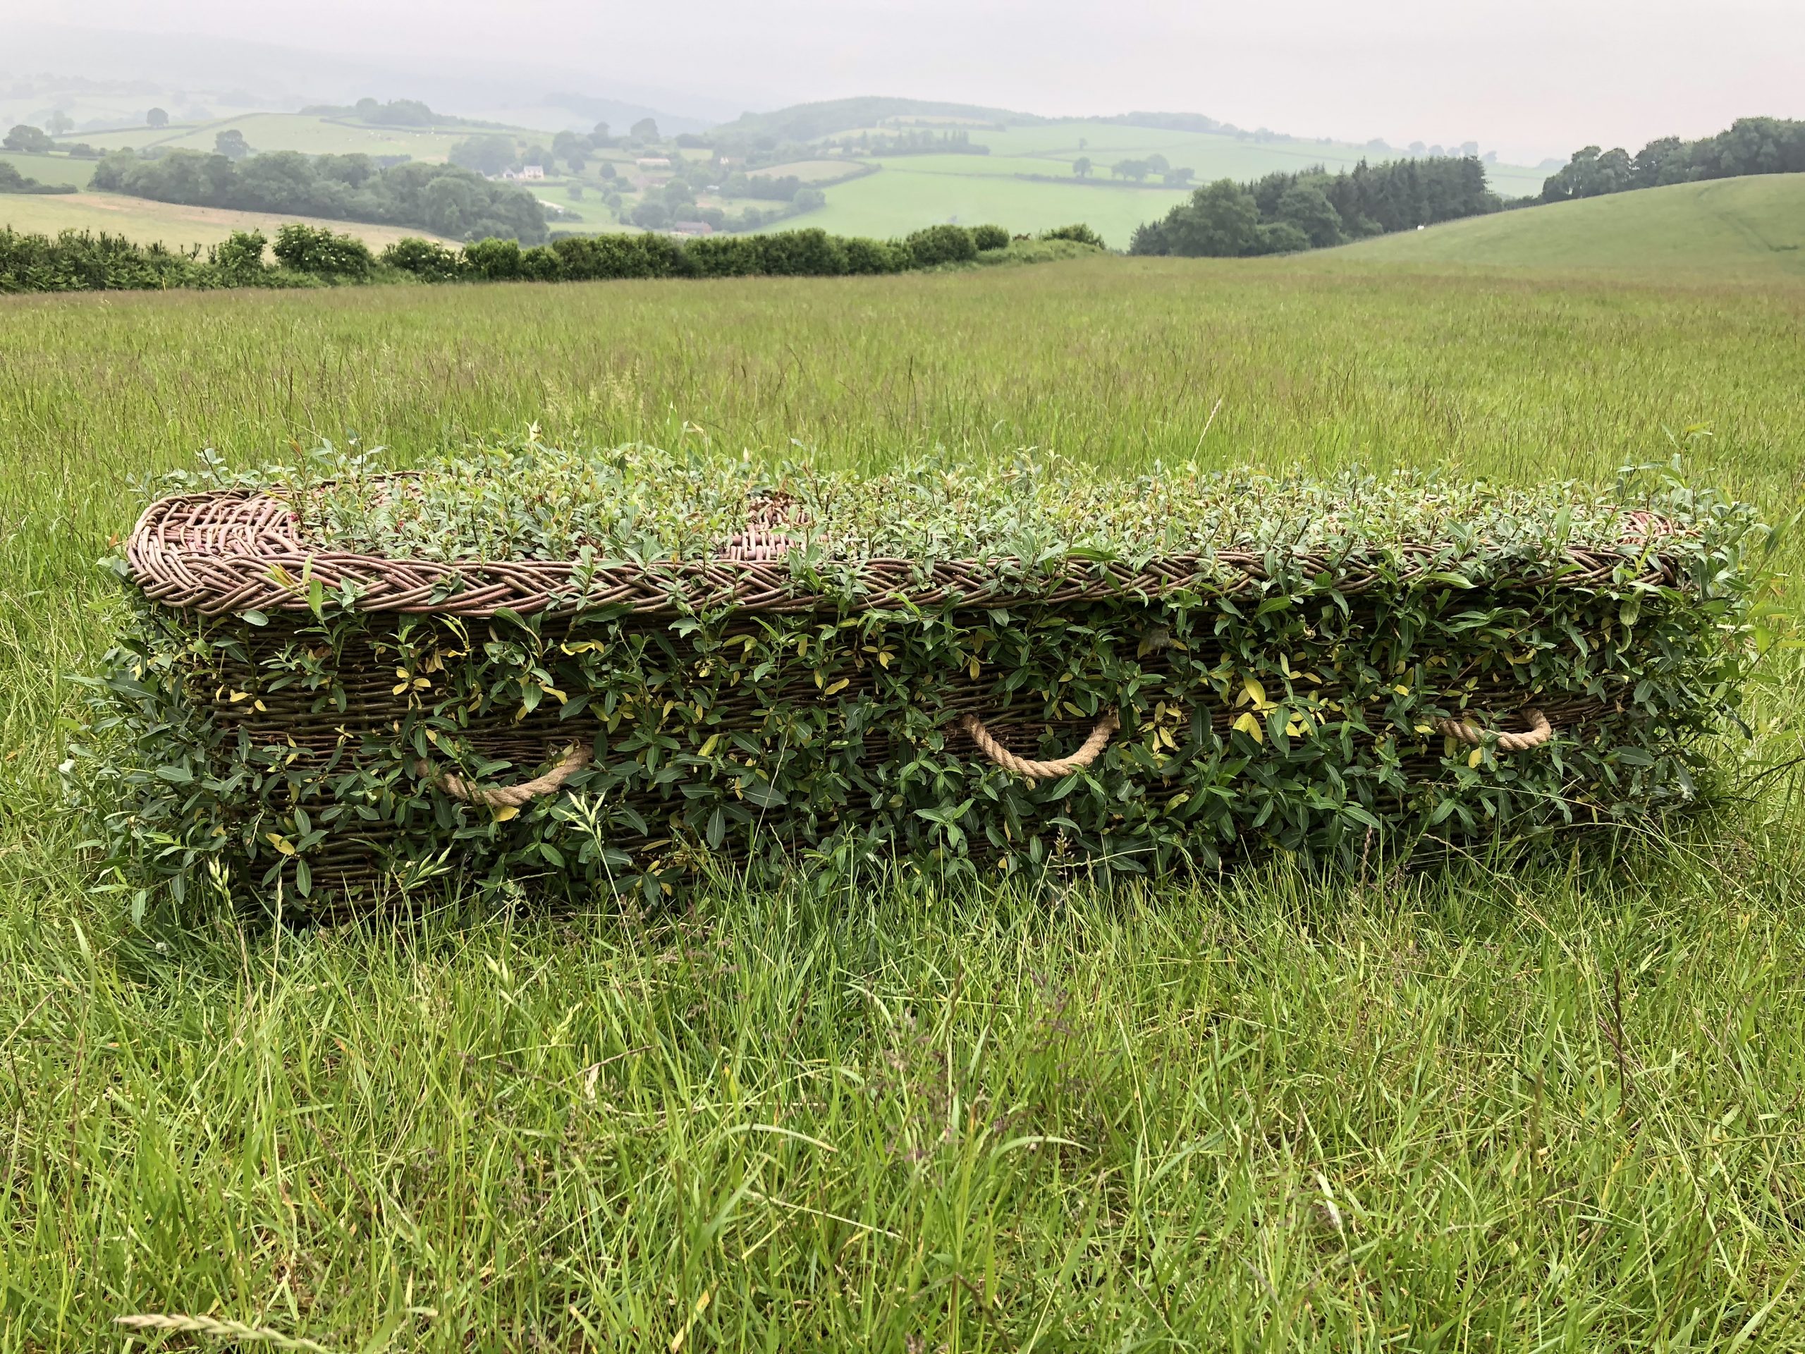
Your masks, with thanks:
<instances>
[{"instance_id":1,"label":"smooth green hillside rising at right below the far-right trees","mask_svg":"<svg viewBox=\"0 0 1805 1354\"><path fill-rule=\"evenodd\" d=\"M1363 240L1330 256L1805 276L1805 173L1713 179L1522 208Z\"/></svg>"}]
</instances>

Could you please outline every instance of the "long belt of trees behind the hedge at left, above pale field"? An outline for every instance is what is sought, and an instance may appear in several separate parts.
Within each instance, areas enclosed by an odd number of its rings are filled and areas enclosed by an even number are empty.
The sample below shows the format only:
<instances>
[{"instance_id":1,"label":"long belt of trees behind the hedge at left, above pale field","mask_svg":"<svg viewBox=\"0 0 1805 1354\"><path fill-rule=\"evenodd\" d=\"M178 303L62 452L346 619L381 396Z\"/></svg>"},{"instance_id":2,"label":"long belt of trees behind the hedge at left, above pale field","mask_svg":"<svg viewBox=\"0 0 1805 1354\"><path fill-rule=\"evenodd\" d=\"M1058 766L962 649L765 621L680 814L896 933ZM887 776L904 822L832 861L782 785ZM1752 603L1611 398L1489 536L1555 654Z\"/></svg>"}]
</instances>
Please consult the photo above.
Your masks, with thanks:
<instances>
[{"instance_id":1,"label":"long belt of trees behind the hedge at left, above pale field","mask_svg":"<svg viewBox=\"0 0 1805 1354\"><path fill-rule=\"evenodd\" d=\"M238 161L199 150L141 159L119 150L94 168L92 186L155 202L412 226L455 240L496 235L542 244L549 236L531 193L457 164L383 166L368 155L294 150Z\"/></svg>"}]
</instances>

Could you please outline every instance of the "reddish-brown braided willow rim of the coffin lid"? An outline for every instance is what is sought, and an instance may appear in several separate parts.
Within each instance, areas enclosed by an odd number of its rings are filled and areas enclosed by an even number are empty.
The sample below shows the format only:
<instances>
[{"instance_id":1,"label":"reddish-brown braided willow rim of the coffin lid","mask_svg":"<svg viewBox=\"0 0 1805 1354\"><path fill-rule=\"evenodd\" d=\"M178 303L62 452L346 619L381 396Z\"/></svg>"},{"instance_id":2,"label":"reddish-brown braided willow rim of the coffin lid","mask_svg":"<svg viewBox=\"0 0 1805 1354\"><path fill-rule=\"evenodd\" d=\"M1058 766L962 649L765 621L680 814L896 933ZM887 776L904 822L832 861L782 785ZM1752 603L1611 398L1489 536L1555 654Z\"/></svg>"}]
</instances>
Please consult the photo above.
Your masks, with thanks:
<instances>
[{"instance_id":1,"label":"reddish-brown braided willow rim of the coffin lid","mask_svg":"<svg viewBox=\"0 0 1805 1354\"><path fill-rule=\"evenodd\" d=\"M565 616L601 607L634 614L675 614L688 608L812 610L819 598L798 587L783 558L789 540L753 505L747 531L706 561L599 567L578 578L563 560L395 560L321 549L301 531L292 505L255 489L220 489L162 498L144 509L126 542L134 581L152 601L191 608L202 616L233 612L305 612L307 589L318 580L327 592L350 585L365 612L440 614L484 619L498 610L520 616ZM1662 536L1679 534L1666 518L1626 513L1615 549L1569 549L1561 567L1511 580L1514 587L1596 587L1630 565L1635 583L1671 583L1677 570L1661 554ZM1440 563L1433 545L1404 545L1404 570L1395 585L1433 574ZM1336 570L1338 590L1357 596L1381 583L1375 567L1334 565L1300 556L1307 574ZM1016 561L879 558L856 565L868 605L935 607L944 603L996 605L1018 599L1040 603L1103 601L1119 596L1155 598L1173 590L1235 596L1267 578L1265 556L1254 551L1173 554L1139 569L1125 563L1069 561L1063 581L1025 589Z\"/></svg>"}]
</instances>

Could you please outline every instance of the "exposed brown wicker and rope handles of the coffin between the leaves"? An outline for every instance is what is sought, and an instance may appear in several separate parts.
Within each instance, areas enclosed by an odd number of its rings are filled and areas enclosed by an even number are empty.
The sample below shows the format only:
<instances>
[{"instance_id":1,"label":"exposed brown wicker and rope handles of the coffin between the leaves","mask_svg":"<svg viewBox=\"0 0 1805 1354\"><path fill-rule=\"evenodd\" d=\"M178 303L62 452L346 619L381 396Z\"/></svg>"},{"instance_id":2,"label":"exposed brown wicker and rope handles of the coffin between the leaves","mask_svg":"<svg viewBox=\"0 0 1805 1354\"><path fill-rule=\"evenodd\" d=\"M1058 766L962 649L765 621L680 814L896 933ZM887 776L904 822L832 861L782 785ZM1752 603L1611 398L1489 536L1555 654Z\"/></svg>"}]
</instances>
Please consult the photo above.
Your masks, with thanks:
<instances>
[{"instance_id":1,"label":"exposed brown wicker and rope handles of the coffin between the leaves","mask_svg":"<svg viewBox=\"0 0 1805 1354\"><path fill-rule=\"evenodd\" d=\"M641 652L648 639L670 648L670 635L680 621L711 616L717 641L745 637L751 650L751 635L769 634L773 617L847 610L843 594L825 598L791 567L783 511L782 502L754 504L745 531L708 560L579 569L570 561L547 560L439 561L338 552L310 543L283 498L233 489L153 504L130 536L126 563L159 623L229 637L229 643L202 646L208 657L195 659L188 673L188 695L197 717L217 728L213 756L235 749L242 758L247 747L264 749L271 765L282 762L285 767L285 793L296 803L318 785L336 784L332 776L356 767L377 767L393 782L397 794L404 789L413 796L399 809L395 796L370 798L370 803L381 800L379 811L359 809L359 818L339 823L310 849L294 852L307 861L307 892L327 906L343 906L347 899L379 888L397 861L433 850L439 852L435 859L444 861L446 843L451 845L453 863L466 850L473 858L493 858L498 841L525 830L532 811L581 793L597 776L606 778L625 756L617 731L569 717L570 691L560 691L567 697L563 702L545 700L525 711L500 706L477 709L478 702L462 700L462 695L455 709L446 700L435 704L435 697L442 695L433 686L435 677L410 679L410 670L397 666L403 648L419 652L422 626L462 635L491 626L493 634L496 617L509 623L523 617L552 637L599 634L603 637L587 648L612 645L625 654ZM1525 612L1532 612L1541 599L1560 594L1679 589L1679 570L1662 549L1662 542L1673 540L1666 533L1670 527L1662 518L1630 513L1623 518L1619 543L1570 549L1552 567L1493 580L1487 596L1514 594ZM1446 567L1444 554L1435 545L1422 545L1393 554L1383 567L1309 556L1291 558L1283 567L1294 578L1334 574L1332 587L1345 603L1350 632L1379 635L1392 599L1430 587L1424 580ZM973 663L969 668L897 673L863 663L857 654L852 654L843 679L832 682L823 682L819 672L778 670L731 690L709 688L709 728L726 731L729 740L736 729L764 728L769 735L773 711L785 708L810 715L830 711L819 724L827 729L834 728L832 711L861 709L861 697L870 702L863 709L875 715L859 717L865 724L856 738L839 738L832 749L819 753L823 765L832 762L841 785L832 803L816 803L807 814L785 807L760 811L756 830L727 834L733 839L708 839L717 836L711 829L720 821L718 812L713 818L691 814L693 830L682 827L684 805L700 796L706 807L708 796L717 793L706 782L711 744L697 731L684 744L691 765L675 787L655 776L628 776L612 785L616 814L608 820L606 845L616 859L653 861L657 868L666 868L673 859L680 863L706 849L744 850L745 841L754 838L780 847L814 845L834 832L870 830L870 823L884 814L892 814L886 821L895 821L893 816L902 812L902 821L913 825L906 807L893 807L897 796L884 798L884 793L895 782L895 767L910 756L924 756L924 747L939 758L935 765L964 767L960 774L971 784L1002 778L1040 796L1029 807L1009 809L1013 827L1005 823L991 830L989 845L980 838L971 841L977 856L1007 854L1020 845L1023 832L1040 830L1036 823L1070 823L1070 818L1061 818L1070 812L1070 800L1060 796L1072 793L1074 780L1092 785L1099 796L1126 794L1123 785L1134 785L1134 793L1143 794L1162 776L1170 784L1177 753L1162 747L1153 728L1155 709L1159 719L1170 717L1168 724L1180 735L1173 738L1168 729L1164 738L1170 749L1184 742L1193 756L1202 756L1195 749L1209 744L1215 747L1209 755L1220 760L1235 738L1233 729L1247 729L1249 711L1238 711L1233 700L1195 699L1197 673L1227 663L1209 648L1209 626L1197 617L1208 614L1211 605L1260 598L1273 574L1269 552L1182 554L1139 567L1072 561L1061 580L1052 585L1040 581L1031 592L995 561L922 567L912 560L879 558L854 567L861 580L861 607L895 616L904 626L926 623L922 617L975 623L975 617L1007 616L1007 608L1018 608L1018 619L1052 612L1103 617L1097 625L1123 623L1135 643L1132 654L1125 645L1117 646L1119 652L1112 650L1110 672L1123 675L1121 697L1110 700L1105 693L1096 709L1074 711L1070 702L1061 706L1052 700L1052 693L1041 693L1047 699L1025 693L1023 699L1022 691L1009 688L1007 673L995 666ZM1175 599L1182 599L1180 610L1171 610ZM334 635L325 625L321 601L327 610L356 612L359 625L339 628ZM406 639L410 634L413 639ZM294 654L316 655L309 661L309 681L273 681L282 657L292 659ZM1289 663L1276 661L1289 675ZM1410 726L1401 742L1395 729L1363 728L1348 735L1348 756L1359 760L1366 756L1363 749L1384 742L1386 756L1402 767L1406 778L1433 780L1446 778L1451 751L1466 758L1469 747L1484 749L1489 760L1504 762L1547 756L1549 744L1603 747L1626 737L1615 726L1634 715L1626 711L1628 686L1587 682L1561 690L1545 679L1531 682L1527 672L1509 663L1464 663L1462 672L1476 675L1458 688L1458 708L1451 699L1444 700L1446 708L1426 717L1428 724L1413 726L1415 742ZM700 690L697 684L704 679L690 673L686 681L691 684L682 688L682 699ZM1303 682L1298 686L1303 688ZM1316 679L1303 690L1318 711L1338 708L1334 677ZM1180 691L1193 695L1184 709L1175 711L1164 697ZM1265 704L1276 702L1256 708ZM702 700L695 699L695 706L700 709ZM442 720L453 720L442 728L455 724L457 738L440 740L428 731L431 742L415 737L410 744L410 720L422 722L435 711ZM1309 717L1301 720L1301 728L1318 726ZM760 735L765 742L756 746L771 756L807 753L807 740L780 747L765 735ZM756 740L740 742L753 747ZM397 746L403 749L399 755ZM1273 755L1273 740L1264 735L1258 746L1244 738L1235 747L1244 756ZM695 756L697 751L702 755ZM756 762L756 753L729 760L731 765L717 756L718 769L738 776L740 787L749 784L749 764ZM1471 760L1478 762L1478 755ZM505 771L493 769L504 762ZM296 780L309 767L316 771L314 789ZM274 802L265 794L258 805L236 809L229 796L222 800L222 821L231 834L236 836L240 827L235 814L247 821L256 818L244 832L256 858L253 874L271 859L267 849L258 854L260 843L289 841L296 830L265 830L274 821L271 814L283 825L291 821L282 818L280 798L280 793ZM729 796L720 798L733 807ZM982 814L982 794L978 802ZM1036 818L1041 809L1045 812ZM316 818L318 807L300 821ZM466 821L482 823L487 836L448 827ZM545 830L543 814L538 821L536 830ZM1061 849L1085 838L1065 827L1049 830L1049 839L1056 838ZM552 832L549 839L558 839L556 829ZM563 856L569 850L560 852ZM274 868L283 865L283 858L276 856Z\"/></svg>"}]
</instances>

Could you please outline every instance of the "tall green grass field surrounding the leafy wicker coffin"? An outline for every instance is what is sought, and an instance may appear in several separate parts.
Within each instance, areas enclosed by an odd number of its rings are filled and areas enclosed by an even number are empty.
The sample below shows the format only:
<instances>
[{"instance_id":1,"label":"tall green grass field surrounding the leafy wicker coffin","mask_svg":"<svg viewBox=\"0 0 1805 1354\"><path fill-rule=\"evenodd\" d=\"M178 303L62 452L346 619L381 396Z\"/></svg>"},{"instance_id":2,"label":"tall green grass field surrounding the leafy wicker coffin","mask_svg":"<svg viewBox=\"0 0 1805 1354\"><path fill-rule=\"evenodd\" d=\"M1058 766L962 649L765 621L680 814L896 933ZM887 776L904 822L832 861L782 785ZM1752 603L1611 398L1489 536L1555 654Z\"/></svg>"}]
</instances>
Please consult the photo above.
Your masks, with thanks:
<instances>
[{"instance_id":1,"label":"tall green grass field surrounding the leafy wicker coffin","mask_svg":"<svg viewBox=\"0 0 1805 1354\"><path fill-rule=\"evenodd\" d=\"M56 769L92 561L202 446L1527 482L1671 430L1780 518L1801 321L1785 280L1350 258L0 298L0 1345L1805 1349L1791 654L1713 809L1357 877L135 928Z\"/></svg>"}]
</instances>

